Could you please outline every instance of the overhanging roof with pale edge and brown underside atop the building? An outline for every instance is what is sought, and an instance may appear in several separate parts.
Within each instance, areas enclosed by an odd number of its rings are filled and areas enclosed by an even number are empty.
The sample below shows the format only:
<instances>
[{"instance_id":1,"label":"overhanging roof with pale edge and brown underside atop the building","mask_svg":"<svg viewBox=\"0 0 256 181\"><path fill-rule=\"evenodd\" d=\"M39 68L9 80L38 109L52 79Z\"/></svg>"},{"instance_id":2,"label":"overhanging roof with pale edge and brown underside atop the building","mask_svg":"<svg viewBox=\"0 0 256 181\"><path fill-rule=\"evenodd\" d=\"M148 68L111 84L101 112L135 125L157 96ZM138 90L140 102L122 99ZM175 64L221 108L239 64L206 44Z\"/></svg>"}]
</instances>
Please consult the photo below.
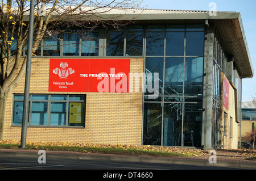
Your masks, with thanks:
<instances>
[{"instance_id":1,"label":"overhanging roof with pale edge and brown underside atop the building","mask_svg":"<svg viewBox=\"0 0 256 181\"><path fill-rule=\"evenodd\" d=\"M209 24L213 24L220 34L227 56L232 57L240 77L254 76L253 65L239 12L217 11L216 15L210 15L209 11L154 9L110 9L102 12L90 12L90 8L84 7L85 10L89 9L86 11L88 14L81 15L79 12L73 12L74 14L65 18L71 20L73 18L76 20L134 20L135 23L154 24L205 23L205 20L208 20ZM28 20L28 15L26 18Z\"/></svg>"}]
</instances>

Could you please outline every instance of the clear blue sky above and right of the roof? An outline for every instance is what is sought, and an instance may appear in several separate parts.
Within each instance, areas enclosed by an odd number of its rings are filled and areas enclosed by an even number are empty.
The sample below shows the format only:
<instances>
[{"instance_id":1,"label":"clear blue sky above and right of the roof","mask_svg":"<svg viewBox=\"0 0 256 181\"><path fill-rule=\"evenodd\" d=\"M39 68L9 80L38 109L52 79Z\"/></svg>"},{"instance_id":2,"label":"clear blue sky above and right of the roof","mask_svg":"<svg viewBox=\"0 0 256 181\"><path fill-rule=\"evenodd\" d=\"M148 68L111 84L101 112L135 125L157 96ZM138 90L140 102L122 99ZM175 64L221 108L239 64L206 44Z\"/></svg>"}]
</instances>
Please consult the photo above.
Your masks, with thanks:
<instances>
[{"instance_id":1,"label":"clear blue sky above and right of the roof","mask_svg":"<svg viewBox=\"0 0 256 181\"><path fill-rule=\"evenodd\" d=\"M251 61L253 62L256 74L256 1L255 0L226 0L226 1L207 1L207 0L144 0L142 6L147 9L169 9L169 10L210 10L209 3L217 5L217 11L236 11L242 16L243 28L250 51ZM253 100L256 96L256 75L254 78L243 79L242 82L242 101Z\"/></svg>"}]
</instances>

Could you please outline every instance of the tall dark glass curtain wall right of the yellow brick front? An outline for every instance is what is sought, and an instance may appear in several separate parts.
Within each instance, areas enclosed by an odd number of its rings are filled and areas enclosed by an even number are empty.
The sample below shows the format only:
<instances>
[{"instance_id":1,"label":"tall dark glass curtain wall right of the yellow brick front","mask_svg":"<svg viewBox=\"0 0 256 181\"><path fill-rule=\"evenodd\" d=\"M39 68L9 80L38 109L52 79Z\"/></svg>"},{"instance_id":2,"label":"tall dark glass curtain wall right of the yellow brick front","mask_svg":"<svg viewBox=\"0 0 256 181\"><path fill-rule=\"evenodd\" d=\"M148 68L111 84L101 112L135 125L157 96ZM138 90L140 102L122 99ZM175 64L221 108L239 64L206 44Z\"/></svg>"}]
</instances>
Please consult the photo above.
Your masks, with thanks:
<instances>
[{"instance_id":1,"label":"tall dark glass curtain wall right of the yellow brick front","mask_svg":"<svg viewBox=\"0 0 256 181\"><path fill-rule=\"evenodd\" d=\"M147 26L145 38L142 144L200 147L204 25Z\"/></svg>"}]
</instances>

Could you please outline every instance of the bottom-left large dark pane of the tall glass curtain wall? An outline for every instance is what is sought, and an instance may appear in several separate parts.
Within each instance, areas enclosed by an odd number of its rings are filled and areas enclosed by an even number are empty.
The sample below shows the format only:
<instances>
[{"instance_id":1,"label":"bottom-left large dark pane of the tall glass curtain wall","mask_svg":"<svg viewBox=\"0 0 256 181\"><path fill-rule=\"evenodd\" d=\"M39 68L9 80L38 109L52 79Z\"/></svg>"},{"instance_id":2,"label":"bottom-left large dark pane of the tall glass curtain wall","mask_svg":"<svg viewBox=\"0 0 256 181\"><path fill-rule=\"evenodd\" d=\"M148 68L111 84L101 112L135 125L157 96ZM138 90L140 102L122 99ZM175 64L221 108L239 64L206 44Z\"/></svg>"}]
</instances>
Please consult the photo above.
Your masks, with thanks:
<instances>
[{"instance_id":1,"label":"bottom-left large dark pane of the tall glass curtain wall","mask_svg":"<svg viewBox=\"0 0 256 181\"><path fill-rule=\"evenodd\" d=\"M162 104L144 103L143 145L161 145Z\"/></svg>"}]
</instances>

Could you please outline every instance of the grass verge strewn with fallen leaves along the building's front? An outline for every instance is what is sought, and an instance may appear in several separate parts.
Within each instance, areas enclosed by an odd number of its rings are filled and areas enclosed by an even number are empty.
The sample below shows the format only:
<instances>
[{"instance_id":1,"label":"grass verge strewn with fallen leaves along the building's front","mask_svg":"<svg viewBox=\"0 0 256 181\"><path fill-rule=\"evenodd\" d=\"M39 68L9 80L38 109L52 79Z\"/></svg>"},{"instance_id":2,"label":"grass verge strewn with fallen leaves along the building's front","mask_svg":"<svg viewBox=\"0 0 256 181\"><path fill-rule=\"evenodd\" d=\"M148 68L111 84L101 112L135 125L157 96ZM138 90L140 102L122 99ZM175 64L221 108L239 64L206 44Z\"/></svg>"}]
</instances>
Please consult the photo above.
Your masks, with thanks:
<instances>
[{"instance_id":1,"label":"grass verge strewn with fallen leaves along the building's front","mask_svg":"<svg viewBox=\"0 0 256 181\"><path fill-rule=\"evenodd\" d=\"M21 149L20 144L0 143L0 149ZM148 155L156 157L198 157L200 153L191 149L155 148L153 146L93 145L67 146L26 144L28 150L77 151L82 153L104 153L123 155Z\"/></svg>"}]
</instances>

